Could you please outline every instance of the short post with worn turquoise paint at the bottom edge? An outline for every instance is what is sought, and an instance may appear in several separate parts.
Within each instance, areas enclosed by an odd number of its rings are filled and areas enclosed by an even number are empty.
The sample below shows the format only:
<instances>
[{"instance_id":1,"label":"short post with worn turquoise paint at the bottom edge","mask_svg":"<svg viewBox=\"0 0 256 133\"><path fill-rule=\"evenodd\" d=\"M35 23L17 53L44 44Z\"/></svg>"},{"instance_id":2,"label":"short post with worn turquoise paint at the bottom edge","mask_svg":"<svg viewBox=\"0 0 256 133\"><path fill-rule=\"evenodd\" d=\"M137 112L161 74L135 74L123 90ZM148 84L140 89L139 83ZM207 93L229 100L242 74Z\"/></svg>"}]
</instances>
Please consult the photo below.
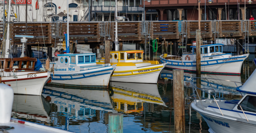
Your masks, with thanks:
<instances>
[{"instance_id":1,"label":"short post with worn turquoise paint at the bottom edge","mask_svg":"<svg viewBox=\"0 0 256 133\"><path fill-rule=\"evenodd\" d=\"M108 118L109 133L123 133L123 114L112 113Z\"/></svg>"}]
</instances>

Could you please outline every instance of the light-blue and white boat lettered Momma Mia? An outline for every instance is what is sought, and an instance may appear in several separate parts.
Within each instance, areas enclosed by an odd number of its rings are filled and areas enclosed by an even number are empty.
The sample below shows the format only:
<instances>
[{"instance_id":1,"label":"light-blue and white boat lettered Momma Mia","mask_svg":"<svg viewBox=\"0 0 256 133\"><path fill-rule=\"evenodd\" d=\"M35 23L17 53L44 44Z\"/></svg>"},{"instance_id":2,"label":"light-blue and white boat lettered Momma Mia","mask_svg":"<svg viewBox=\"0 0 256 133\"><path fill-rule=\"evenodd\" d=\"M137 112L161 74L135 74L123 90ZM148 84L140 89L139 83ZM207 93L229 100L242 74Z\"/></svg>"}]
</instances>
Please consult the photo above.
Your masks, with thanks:
<instances>
[{"instance_id":1,"label":"light-blue and white boat lettered Momma Mia","mask_svg":"<svg viewBox=\"0 0 256 133\"><path fill-rule=\"evenodd\" d=\"M116 65L96 64L96 53L58 54L54 65L52 84L63 86L107 88Z\"/></svg>"}]
</instances>

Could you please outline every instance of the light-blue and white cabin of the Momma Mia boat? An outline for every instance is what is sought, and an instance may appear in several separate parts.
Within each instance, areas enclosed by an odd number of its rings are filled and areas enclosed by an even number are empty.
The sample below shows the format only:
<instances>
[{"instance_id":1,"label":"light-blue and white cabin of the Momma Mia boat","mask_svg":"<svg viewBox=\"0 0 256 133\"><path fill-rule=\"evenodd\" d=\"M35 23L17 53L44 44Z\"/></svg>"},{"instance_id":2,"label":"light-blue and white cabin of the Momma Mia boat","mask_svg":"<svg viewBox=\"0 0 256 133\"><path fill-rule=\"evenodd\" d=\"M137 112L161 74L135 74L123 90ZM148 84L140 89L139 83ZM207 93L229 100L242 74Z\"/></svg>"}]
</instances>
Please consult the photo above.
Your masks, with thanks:
<instances>
[{"instance_id":1,"label":"light-blue and white cabin of the Momma Mia boat","mask_svg":"<svg viewBox=\"0 0 256 133\"><path fill-rule=\"evenodd\" d=\"M57 56L56 67L96 65L96 53L64 53Z\"/></svg>"}]
</instances>

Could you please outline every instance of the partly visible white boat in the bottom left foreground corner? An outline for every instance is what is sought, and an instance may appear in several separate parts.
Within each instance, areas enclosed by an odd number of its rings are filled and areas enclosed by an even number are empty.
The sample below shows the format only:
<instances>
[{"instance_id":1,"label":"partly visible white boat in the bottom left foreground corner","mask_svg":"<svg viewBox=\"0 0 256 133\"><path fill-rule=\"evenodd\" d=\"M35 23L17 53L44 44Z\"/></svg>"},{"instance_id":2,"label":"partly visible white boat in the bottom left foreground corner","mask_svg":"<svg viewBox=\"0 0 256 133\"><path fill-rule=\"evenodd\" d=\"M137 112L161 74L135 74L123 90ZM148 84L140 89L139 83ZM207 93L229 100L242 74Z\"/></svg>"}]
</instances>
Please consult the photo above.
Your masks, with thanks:
<instances>
[{"instance_id":1,"label":"partly visible white boat in the bottom left foreground corner","mask_svg":"<svg viewBox=\"0 0 256 133\"><path fill-rule=\"evenodd\" d=\"M0 129L3 133L70 133L58 128L44 126L20 119L11 118L13 90L0 84Z\"/></svg>"}]
</instances>

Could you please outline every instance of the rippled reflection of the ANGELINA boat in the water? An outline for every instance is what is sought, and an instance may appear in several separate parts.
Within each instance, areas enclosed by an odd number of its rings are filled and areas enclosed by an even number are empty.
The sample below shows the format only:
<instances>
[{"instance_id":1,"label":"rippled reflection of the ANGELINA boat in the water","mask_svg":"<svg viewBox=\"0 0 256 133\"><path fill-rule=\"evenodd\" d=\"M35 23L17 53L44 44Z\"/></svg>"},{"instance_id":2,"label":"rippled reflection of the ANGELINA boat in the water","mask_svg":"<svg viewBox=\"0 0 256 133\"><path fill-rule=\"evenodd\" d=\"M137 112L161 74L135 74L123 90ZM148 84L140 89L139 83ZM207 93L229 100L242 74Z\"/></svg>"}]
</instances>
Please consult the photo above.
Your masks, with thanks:
<instances>
[{"instance_id":1,"label":"rippled reflection of the ANGELINA boat in the water","mask_svg":"<svg viewBox=\"0 0 256 133\"><path fill-rule=\"evenodd\" d=\"M205 76L204 74L201 74L201 78L203 78L204 76ZM189 81L191 77L195 78L196 74L184 73L184 86L193 87ZM160 73L160 78L167 78L172 80L173 71L163 69ZM242 84L230 82L230 81L241 82L241 76L207 74L207 78L216 92L219 92L219 93L221 92L222 94L241 95L239 92L236 91L236 87L241 86ZM214 80L214 79L219 79L219 80ZM229 81L222 81L222 80L229 80ZM194 82L196 82L196 80L194 80ZM202 79L201 88L211 89L211 86L208 81Z\"/></svg>"}]
</instances>

